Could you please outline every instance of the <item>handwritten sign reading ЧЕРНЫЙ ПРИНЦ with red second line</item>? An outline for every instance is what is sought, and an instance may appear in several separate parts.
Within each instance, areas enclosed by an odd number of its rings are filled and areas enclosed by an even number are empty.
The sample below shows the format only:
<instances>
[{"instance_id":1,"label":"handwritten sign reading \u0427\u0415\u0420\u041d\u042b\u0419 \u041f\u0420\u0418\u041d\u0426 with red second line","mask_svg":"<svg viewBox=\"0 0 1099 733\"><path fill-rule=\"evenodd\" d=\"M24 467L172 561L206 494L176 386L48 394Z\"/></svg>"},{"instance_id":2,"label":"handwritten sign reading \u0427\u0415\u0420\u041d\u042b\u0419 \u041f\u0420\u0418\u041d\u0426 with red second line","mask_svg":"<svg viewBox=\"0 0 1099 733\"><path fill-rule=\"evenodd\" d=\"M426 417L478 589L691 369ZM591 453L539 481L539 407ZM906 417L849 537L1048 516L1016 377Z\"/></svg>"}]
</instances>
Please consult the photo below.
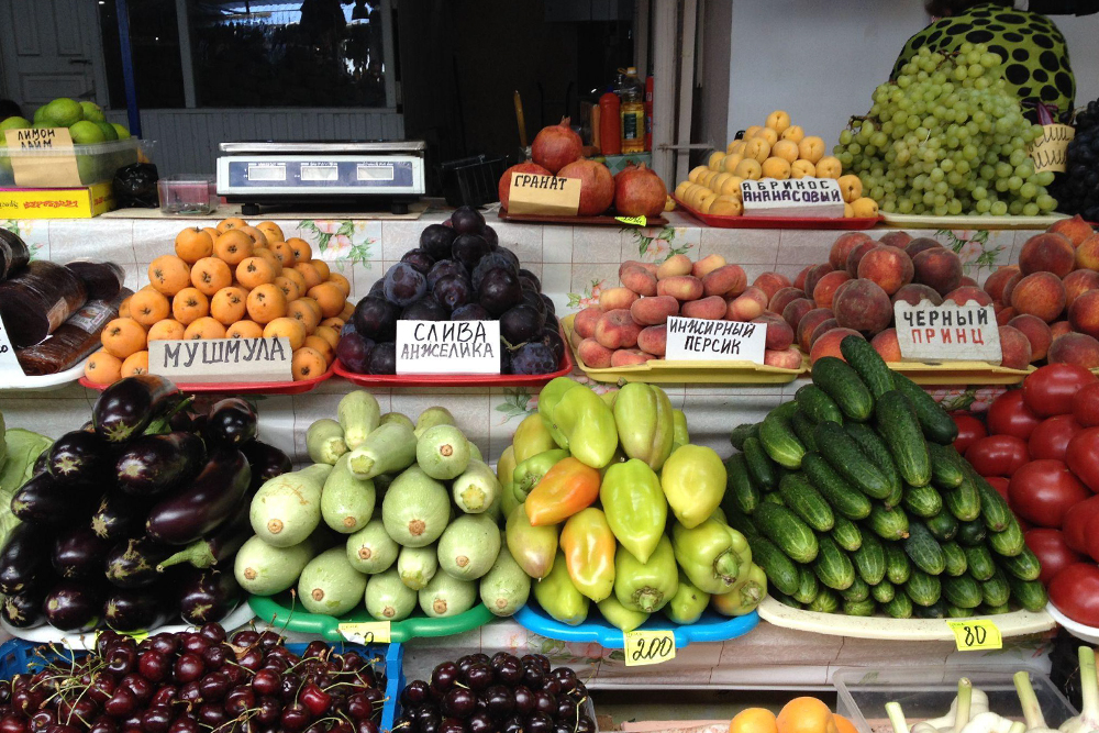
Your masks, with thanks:
<instances>
[{"instance_id":1,"label":"handwritten sign reading \u0427\u0415\u0420\u041d\u042b\u0419 \u041f\u0420\u0418\u041d\u0426 with red second line","mask_svg":"<svg viewBox=\"0 0 1099 733\"><path fill-rule=\"evenodd\" d=\"M991 306L930 300L893 304L897 342L906 362L988 362L999 364L1000 329Z\"/></svg>"}]
</instances>

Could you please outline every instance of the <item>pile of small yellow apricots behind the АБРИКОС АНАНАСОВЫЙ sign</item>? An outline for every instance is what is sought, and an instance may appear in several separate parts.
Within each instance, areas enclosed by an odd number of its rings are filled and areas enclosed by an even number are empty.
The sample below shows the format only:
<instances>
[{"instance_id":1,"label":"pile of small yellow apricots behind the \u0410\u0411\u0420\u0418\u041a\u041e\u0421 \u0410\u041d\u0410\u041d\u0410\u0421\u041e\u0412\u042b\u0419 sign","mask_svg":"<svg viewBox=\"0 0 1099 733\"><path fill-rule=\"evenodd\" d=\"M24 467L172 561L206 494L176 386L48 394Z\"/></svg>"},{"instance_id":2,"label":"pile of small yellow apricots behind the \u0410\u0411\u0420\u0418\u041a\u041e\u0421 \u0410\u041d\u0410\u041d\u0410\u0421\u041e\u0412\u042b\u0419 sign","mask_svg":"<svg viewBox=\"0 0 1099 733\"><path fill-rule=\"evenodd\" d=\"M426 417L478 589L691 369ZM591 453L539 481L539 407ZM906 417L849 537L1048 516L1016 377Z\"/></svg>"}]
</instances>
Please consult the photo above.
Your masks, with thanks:
<instances>
[{"instance_id":1,"label":"pile of small yellow apricots behind the \u0410\u0411\u0420\u0418\u041a\u041e\u0421 \u0410\u041d\u0410\u041d\u0410\u0421\u041e\u0412\u042b\u0419 sign","mask_svg":"<svg viewBox=\"0 0 1099 733\"><path fill-rule=\"evenodd\" d=\"M748 127L724 153L715 151L707 165L693 168L687 180L676 186L676 198L704 214L740 216L744 213L744 180L836 178L843 192L844 216L877 216L878 204L863 196L858 176L842 174L840 160L824 155L823 140L807 137L800 125L790 123L789 114L775 110L762 127Z\"/></svg>"}]
</instances>

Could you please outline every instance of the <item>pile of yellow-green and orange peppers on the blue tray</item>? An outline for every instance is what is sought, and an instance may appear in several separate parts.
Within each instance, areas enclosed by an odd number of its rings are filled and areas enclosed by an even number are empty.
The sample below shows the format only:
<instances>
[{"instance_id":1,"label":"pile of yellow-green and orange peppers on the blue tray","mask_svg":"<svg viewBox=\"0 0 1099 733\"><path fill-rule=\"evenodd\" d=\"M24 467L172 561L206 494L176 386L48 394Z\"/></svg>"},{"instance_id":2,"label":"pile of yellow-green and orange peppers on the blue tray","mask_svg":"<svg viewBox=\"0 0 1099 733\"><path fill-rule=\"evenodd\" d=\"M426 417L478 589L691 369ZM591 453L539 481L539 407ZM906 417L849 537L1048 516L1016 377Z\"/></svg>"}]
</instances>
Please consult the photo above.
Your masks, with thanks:
<instances>
[{"instance_id":1,"label":"pile of yellow-green and orange peppers on the blue tray","mask_svg":"<svg viewBox=\"0 0 1099 733\"><path fill-rule=\"evenodd\" d=\"M554 379L498 476L508 547L562 623L582 623L593 601L623 631L662 610L690 624L710 604L750 613L767 592L747 542L719 509L721 459L690 444L686 419L658 387L629 384L600 397Z\"/></svg>"}]
</instances>

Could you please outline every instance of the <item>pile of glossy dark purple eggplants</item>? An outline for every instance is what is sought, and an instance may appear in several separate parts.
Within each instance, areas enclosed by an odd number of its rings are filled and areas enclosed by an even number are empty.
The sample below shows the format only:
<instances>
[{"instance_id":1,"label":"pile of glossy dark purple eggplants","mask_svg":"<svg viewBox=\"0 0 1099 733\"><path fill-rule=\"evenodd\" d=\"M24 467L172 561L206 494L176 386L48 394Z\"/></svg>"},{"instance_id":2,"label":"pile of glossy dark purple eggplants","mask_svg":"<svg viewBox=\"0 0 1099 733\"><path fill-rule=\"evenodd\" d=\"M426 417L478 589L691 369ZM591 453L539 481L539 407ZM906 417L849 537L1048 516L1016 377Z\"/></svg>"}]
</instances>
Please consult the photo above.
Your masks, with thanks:
<instances>
[{"instance_id":1,"label":"pile of glossy dark purple eggplants","mask_svg":"<svg viewBox=\"0 0 1099 733\"><path fill-rule=\"evenodd\" d=\"M243 601L233 558L248 506L285 453L256 440L240 398L204 413L162 377L115 382L11 499L0 618L64 632L221 621Z\"/></svg>"}]
</instances>

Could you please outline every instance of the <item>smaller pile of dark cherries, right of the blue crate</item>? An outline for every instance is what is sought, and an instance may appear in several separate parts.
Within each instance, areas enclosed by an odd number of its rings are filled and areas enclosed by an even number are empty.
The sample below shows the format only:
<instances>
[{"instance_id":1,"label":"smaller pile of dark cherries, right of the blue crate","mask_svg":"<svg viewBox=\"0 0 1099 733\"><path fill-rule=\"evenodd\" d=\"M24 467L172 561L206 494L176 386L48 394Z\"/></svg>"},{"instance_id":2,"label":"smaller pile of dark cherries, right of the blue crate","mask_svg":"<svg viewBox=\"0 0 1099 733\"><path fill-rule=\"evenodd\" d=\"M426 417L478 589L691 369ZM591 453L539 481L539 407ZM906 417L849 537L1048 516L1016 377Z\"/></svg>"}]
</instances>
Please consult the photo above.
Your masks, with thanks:
<instances>
[{"instance_id":1,"label":"smaller pile of dark cherries, right of the blue crate","mask_svg":"<svg viewBox=\"0 0 1099 733\"><path fill-rule=\"evenodd\" d=\"M595 733L587 702L576 673L541 654L470 654L404 688L393 733Z\"/></svg>"}]
</instances>

